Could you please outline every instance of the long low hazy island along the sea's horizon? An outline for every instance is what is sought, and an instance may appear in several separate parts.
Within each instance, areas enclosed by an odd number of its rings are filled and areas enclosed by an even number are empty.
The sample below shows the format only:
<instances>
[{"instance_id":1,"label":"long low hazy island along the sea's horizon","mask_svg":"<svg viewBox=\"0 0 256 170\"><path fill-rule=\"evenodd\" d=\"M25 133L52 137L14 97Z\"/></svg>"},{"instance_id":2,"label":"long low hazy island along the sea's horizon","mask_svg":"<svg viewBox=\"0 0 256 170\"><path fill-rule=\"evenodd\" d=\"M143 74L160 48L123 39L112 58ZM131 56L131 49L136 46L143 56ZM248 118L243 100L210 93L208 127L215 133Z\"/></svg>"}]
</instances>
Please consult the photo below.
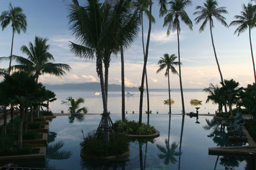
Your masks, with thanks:
<instances>
[{"instance_id":1,"label":"long low hazy island along the sea's horizon","mask_svg":"<svg viewBox=\"0 0 256 170\"><path fill-rule=\"evenodd\" d=\"M61 85L48 85L44 84L46 89L49 90L83 90L83 91L93 91L100 92L100 83L99 82L90 82L90 83L65 83ZM121 92L122 86L116 84L108 85L109 92ZM168 92L168 89L150 89L154 92ZM202 92L202 89L183 89L184 92ZM146 90L145 90L146 91ZM139 92L138 87L125 87L125 92ZM180 92L180 89L172 89L172 92Z\"/></svg>"}]
</instances>

